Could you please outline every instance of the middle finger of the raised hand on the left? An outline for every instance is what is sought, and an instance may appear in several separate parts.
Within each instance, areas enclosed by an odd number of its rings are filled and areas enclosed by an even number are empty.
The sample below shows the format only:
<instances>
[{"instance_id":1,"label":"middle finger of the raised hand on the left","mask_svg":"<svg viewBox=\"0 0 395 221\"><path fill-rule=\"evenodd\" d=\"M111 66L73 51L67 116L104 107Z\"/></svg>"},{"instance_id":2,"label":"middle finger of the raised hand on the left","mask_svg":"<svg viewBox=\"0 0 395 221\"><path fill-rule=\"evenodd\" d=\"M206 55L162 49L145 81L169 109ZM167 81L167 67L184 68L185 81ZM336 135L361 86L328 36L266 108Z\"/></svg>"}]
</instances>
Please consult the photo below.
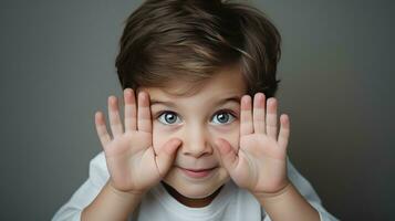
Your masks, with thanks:
<instances>
[{"instance_id":1,"label":"middle finger of the raised hand on the left","mask_svg":"<svg viewBox=\"0 0 395 221\"><path fill-rule=\"evenodd\" d=\"M136 130L137 127L137 113L136 113L136 98L132 88L124 91L125 99L125 130Z\"/></svg>"}]
</instances>

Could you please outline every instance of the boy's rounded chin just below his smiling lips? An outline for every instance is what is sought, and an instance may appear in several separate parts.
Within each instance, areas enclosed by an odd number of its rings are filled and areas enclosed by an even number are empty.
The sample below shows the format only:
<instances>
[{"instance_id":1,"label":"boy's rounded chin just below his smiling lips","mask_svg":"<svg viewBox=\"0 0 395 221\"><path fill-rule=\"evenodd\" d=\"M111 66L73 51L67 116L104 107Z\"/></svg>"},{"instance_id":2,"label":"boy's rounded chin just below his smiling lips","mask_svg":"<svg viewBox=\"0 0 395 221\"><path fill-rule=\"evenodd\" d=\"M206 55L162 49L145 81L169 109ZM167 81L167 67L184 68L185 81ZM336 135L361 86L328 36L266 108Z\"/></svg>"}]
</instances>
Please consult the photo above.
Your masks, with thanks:
<instances>
[{"instance_id":1,"label":"boy's rounded chin just below his smiling lips","mask_svg":"<svg viewBox=\"0 0 395 221\"><path fill-rule=\"evenodd\" d=\"M229 175L224 168L218 168L218 171L206 180L189 180L177 169L171 169L164 181L184 197L202 199L215 193L229 179Z\"/></svg>"}]
</instances>

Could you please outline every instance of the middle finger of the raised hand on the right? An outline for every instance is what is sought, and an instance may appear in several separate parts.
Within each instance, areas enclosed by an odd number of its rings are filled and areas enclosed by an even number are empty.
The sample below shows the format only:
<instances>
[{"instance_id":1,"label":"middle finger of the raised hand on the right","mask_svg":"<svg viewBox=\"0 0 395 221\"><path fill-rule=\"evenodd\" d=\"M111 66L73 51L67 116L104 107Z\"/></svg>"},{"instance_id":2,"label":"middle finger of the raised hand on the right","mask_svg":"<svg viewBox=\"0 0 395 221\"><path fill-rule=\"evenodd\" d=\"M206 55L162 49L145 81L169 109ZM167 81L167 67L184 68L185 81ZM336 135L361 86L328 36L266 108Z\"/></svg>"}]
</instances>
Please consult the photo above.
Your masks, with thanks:
<instances>
[{"instance_id":1,"label":"middle finger of the raised hand on the right","mask_svg":"<svg viewBox=\"0 0 395 221\"><path fill-rule=\"evenodd\" d=\"M266 97L263 93L257 93L253 97L253 131L258 134L266 133L264 122L264 103Z\"/></svg>"}]
</instances>

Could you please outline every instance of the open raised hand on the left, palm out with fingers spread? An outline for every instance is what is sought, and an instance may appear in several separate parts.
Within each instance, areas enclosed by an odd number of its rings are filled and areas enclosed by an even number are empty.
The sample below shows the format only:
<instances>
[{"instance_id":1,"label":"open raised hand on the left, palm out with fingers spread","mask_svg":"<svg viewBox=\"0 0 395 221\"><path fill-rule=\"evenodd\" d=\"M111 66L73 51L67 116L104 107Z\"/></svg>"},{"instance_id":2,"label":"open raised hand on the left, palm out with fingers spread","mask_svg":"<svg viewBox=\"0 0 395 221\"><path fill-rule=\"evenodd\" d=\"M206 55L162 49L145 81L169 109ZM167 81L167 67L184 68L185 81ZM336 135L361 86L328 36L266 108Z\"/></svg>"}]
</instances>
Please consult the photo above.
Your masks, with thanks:
<instances>
[{"instance_id":1,"label":"open raised hand on the left, palm out with fingers spread","mask_svg":"<svg viewBox=\"0 0 395 221\"><path fill-rule=\"evenodd\" d=\"M133 90L126 88L124 101L125 131L115 96L108 97L108 118L113 138L107 133L101 112L95 114L96 131L105 152L110 185L119 191L145 193L165 177L181 140L170 139L159 152L155 152L148 94L138 94L136 107Z\"/></svg>"}]
</instances>

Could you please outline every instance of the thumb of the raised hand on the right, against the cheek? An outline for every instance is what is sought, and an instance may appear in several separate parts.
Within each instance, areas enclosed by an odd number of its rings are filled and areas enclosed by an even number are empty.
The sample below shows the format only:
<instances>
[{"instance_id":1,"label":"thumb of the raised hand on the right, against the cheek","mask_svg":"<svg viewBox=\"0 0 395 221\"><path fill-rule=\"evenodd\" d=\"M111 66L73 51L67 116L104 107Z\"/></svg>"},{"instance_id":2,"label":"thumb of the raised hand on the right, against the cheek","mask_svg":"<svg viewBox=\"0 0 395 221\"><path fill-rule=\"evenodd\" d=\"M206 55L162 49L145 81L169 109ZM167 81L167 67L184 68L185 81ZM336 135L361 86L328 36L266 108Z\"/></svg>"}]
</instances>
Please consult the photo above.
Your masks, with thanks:
<instances>
[{"instance_id":1,"label":"thumb of the raised hand on the right, against the cheek","mask_svg":"<svg viewBox=\"0 0 395 221\"><path fill-rule=\"evenodd\" d=\"M225 167L225 169L231 173L239 161L239 157L236 155L236 151L226 139L219 138L215 141L215 144L217 157L222 162L222 167Z\"/></svg>"}]
</instances>

